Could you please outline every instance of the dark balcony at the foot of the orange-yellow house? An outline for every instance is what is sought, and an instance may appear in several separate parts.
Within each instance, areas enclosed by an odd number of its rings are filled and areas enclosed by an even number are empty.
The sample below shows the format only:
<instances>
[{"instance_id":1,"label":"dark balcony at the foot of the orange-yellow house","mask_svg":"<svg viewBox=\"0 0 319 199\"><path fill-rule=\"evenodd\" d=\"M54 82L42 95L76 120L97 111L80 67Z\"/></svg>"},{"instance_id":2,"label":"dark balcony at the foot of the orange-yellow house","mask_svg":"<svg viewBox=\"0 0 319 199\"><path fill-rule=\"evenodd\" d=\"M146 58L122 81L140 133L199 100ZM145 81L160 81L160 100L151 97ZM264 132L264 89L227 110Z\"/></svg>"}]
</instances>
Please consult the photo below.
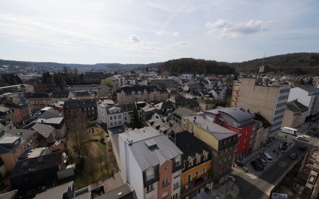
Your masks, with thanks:
<instances>
[{"instance_id":1,"label":"dark balcony at the foot of the orange-yellow house","mask_svg":"<svg viewBox=\"0 0 319 199\"><path fill-rule=\"evenodd\" d=\"M188 183L188 189L183 189L181 191L180 198L186 198L211 182L213 182L212 177L209 177L207 174L201 175L199 178L195 179L194 182Z\"/></svg>"}]
</instances>

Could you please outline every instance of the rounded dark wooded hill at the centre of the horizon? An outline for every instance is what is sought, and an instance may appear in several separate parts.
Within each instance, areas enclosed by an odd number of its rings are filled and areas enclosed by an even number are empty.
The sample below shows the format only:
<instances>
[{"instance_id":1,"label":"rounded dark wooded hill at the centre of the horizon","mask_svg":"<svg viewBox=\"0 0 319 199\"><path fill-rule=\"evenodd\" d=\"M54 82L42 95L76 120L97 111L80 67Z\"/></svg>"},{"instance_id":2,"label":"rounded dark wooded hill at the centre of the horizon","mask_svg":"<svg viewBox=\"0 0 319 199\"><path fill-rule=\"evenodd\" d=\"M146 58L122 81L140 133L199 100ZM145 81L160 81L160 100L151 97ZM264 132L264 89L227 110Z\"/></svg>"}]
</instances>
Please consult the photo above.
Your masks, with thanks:
<instances>
[{"instance_id":1,"label":"rounded dark wooded hill at the centre of the horizon","mask_svg":"<svg viewBox=\"0 0 319 199\"><path fill-rule=\"evenodd\" d=\"M181 58L163 62L158 67L160 71L170 73L193 73L193 74L235 74L235 68L229 64L193 58Z\"/></svg>"}]
</instances>

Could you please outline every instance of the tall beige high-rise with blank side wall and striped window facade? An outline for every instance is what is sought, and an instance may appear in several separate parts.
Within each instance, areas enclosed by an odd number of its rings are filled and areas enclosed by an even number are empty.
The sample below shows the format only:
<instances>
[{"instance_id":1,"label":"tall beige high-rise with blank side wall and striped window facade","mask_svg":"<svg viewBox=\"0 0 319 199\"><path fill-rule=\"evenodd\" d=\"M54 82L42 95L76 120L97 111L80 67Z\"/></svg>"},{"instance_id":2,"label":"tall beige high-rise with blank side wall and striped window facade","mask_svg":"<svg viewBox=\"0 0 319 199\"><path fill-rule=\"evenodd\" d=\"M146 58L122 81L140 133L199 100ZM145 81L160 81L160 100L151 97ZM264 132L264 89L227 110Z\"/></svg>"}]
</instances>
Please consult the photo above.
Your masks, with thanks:
<instances>
[{"instance_id":1,"label":"tall beige high-rise with blank side wall and striped window facade","mask_svg":"<svg viewBox=\"0 0 319 199\"><path fill-rule=\"evenodd\" d=\"M271 124L269 139L280 132L290 93L290 86L259 86L256 79L243 78L234 83L231 106L259 112Z\"/></svg>"}]
</instances>

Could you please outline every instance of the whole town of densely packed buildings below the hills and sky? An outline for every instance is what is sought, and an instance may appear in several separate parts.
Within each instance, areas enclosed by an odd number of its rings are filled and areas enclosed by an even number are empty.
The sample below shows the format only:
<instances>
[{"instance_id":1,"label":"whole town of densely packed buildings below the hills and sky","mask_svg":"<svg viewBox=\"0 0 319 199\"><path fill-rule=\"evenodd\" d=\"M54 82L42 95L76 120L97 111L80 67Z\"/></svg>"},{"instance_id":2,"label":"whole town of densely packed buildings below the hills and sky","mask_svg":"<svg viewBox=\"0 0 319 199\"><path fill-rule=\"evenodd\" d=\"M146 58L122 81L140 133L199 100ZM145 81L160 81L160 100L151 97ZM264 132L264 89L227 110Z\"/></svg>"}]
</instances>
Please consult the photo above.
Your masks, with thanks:
<instances>
[{"instance_id":1,"label":"whole town of densely packed buildings below the hills and sky","mask_svg":"<svg viewBox=\"0 0 319 199\"><path fill-rule=\"evenodd\" d=\"M0 198L318 198L319 77L227 72L1 65Z\"/></svg>"}]
</instances>

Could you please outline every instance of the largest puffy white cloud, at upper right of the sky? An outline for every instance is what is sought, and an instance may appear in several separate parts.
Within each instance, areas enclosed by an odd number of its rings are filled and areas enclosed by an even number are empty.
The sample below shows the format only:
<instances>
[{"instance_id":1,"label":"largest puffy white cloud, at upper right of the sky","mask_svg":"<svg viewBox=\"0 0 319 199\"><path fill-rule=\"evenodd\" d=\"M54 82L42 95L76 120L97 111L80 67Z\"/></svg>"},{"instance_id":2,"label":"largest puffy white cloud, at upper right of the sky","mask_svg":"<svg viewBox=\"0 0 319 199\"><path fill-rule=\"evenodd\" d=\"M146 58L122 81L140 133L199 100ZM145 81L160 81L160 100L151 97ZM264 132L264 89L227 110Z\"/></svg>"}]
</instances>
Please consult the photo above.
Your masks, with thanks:
<instances>
[{"instance_id":1,"label":"largest puffy white cloud, at upper right of the sky","mask_svg":"<svg viewBox=\"0 0 319 199\"><path fill-rule=\"evenodd\" d=\"M262 20L252 19L246 23L232 23L225 19L218 19L215 22L207 22L205 27L210 29L208 33L217 33L219 39L225 39L266 31L274 22L275 21L264 22Z\"/></svg>"}]
</instances>

